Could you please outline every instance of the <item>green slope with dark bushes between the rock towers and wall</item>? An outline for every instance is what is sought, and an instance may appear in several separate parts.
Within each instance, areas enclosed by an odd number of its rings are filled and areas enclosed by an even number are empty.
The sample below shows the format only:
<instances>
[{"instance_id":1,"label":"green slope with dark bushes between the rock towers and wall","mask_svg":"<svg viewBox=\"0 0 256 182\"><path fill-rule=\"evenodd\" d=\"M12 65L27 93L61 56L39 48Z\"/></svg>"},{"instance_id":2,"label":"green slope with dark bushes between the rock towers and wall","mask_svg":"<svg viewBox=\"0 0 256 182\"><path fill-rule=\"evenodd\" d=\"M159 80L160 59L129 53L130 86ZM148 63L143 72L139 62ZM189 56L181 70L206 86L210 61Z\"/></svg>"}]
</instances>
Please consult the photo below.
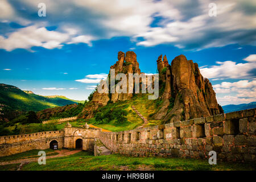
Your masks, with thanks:
<instances>
[{"instance_id":1,"label":"green slope with dark bushes between the rock towers and wall","mask_svg":"<svg viewBox=\"0 0 256 182\"><path fill-rule=\"evenodd\" d=\"M158 102L161 100L148 100L148 94L134 94L131 100L109 102L108 105L95 111L94 118L88 123L109 131L132 130L143 124L142 119L135 113L131 106L147 118L148 125L158 125L161 121L152 119L152 115L159 109Z\"/></svg>"}]
</instances>

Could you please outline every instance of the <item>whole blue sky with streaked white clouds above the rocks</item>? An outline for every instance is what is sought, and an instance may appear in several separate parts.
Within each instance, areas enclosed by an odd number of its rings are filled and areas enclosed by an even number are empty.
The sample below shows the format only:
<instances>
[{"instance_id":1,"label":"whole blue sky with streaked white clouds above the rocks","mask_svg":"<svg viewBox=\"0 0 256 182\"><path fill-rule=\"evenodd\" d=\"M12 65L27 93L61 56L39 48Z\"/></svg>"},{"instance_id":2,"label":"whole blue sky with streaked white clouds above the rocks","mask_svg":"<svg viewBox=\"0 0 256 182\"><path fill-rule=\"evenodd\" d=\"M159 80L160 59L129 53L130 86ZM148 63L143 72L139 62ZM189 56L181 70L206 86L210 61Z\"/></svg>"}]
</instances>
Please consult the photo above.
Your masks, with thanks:
<instances>
[{"instance_id":1,"label":"whole blue sky with streaked white clouds above the rocks","mask_svg":"<svg viewBox=\"0 0 256 182\"><path fill-rule=\"evenodd\" d=\"M0 83L86 100L118 51L144 73L185 55L219 104L256 101L256 1L0 1Z\"/></svg>"}]
</instances>

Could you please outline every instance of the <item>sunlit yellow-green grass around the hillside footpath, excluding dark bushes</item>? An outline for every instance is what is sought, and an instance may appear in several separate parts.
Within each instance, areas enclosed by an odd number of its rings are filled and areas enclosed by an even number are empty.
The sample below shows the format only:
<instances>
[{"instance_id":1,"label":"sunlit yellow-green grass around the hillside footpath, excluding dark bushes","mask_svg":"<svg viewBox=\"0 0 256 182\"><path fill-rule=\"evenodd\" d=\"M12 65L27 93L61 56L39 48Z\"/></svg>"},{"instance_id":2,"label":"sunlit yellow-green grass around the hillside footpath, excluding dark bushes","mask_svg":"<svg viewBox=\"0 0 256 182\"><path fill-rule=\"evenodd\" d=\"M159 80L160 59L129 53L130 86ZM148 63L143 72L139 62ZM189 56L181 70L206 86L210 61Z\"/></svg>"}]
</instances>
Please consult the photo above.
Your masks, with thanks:
<instances>
[{"instance_id":1,"label":"sunlit yellow-green grass around the hillside footpath, excluding dark bushes","mask_svg":"<svg viewBox=\"0 0 256 182\"><path fill-rule=\"evenodd\" d=\"M115 126L113 122L100 124L94 122L94 119L90 119L89 123L95 126L101 127L109 131L125 131L132 130L143 124L141 118L135 113L131 106L134 105L137 110L143 115L144 118L148 120L147 126L159 125L161 121L156 121L150 118L150 114L155 113L158 109L155 100L148 100L148 94L136 94L131 100L128 101L118 101L115 104L108 104L109 108L112 107L123 107L128 111L127 119L129 123L121 126Z\"/></svg>"}]
</instances>

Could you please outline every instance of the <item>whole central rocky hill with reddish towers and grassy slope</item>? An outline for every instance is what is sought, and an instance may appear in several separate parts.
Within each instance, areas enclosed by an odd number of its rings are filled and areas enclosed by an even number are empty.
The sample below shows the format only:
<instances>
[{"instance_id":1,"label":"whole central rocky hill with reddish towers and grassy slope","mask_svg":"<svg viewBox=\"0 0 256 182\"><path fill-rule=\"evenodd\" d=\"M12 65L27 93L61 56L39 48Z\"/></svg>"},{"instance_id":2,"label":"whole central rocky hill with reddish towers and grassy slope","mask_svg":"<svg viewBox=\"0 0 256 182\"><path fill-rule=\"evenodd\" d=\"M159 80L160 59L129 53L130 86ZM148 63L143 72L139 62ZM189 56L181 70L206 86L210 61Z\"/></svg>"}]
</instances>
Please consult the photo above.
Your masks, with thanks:
<instances>
[{"instance_id":1,"label":"whole central rocky hill with reddish towers and grassy slope","mask_svg":"<svg viewBox=\"0 0 256 182\"><path fill-rule=\"evenodd\" d=\"M110 70L109 78L112 77L111 74L115 77L118 73L124 73L126 77L130 73L141 75L137 55L133 51L119 51L117 59L110 67L114 72L111 73ZM124 127L131 129L142 124L142 119L138 119L131 109L132 105L148 120L148 125L184 121L224 112L217 103L212 84L201 75L197 63L180 55L169 64L167 57L160 55L156 64L159 73L159 97L156 100L148 100L148 93L100 93L96 89L78 117L110 131L121 131ZM120 82L115 80L114 86L120 86ZM110 83L106 86L109 91L112 89ZM141 80L139 88L141 92ZM118 118L116 115L121 116Z\"/></svg>"}]
</instances>

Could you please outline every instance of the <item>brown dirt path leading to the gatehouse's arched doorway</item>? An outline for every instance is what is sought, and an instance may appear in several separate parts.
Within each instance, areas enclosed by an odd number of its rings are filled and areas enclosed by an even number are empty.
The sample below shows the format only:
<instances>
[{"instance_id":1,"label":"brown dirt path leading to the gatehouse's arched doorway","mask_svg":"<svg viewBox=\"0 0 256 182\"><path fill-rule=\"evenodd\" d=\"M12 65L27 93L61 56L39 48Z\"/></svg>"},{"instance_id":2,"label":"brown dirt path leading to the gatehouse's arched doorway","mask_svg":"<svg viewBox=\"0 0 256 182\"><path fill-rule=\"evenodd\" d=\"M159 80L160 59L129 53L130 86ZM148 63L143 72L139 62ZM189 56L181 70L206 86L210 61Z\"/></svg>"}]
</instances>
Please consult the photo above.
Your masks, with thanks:
<instances>
[{"instance_id":1,"label":"brown dirt path leading to the gatehouse's arched doorway","mask_svg":"<svg viewBox=\"0 0 256 182\"><path fill-rule=\"evenodd\" d=\"M76 154L77 152L80 152L81 150L56 150L55 152L59 153L57 155L51 155L47 156L46 159L52 159L52 158L59 158L63 156L68 156L72 154ZM38 156L39 158L39 156ZM38 158L29 158L29 159L18 159L18 160L10 160L6 162L0 162L0 166L7 165L7 164L17 164L17 163L31 163L31 162L37 162Z\"/></svg>"}]
</instances>

